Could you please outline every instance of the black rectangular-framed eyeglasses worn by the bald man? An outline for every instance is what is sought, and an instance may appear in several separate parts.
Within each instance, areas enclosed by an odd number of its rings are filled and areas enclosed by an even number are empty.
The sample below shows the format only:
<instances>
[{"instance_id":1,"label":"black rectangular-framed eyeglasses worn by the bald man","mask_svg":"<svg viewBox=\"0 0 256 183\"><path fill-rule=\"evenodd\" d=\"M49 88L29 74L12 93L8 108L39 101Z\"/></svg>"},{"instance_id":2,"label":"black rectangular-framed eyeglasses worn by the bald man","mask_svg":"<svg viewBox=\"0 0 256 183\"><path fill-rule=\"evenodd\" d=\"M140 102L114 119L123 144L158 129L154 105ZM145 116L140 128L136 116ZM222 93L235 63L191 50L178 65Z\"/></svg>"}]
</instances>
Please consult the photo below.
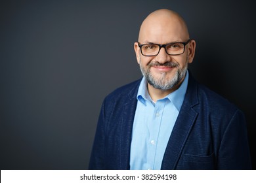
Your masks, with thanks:
<instances>
[{"instance_id":1,"label":"black rectangular-framed eyeglasses worn by the bald man","mask_svg":"<svg viewBox=\"0 0 256 183\"><path fill-rule=\"evenodd\" d=\"M165 52L170 56L181 55L185 51L185 46L190 42L188 39L187 42L171 42L168 44L139 44L140 52L143 56L157 56L161 48L165 48Z\"/></svg>"}]
</instances>

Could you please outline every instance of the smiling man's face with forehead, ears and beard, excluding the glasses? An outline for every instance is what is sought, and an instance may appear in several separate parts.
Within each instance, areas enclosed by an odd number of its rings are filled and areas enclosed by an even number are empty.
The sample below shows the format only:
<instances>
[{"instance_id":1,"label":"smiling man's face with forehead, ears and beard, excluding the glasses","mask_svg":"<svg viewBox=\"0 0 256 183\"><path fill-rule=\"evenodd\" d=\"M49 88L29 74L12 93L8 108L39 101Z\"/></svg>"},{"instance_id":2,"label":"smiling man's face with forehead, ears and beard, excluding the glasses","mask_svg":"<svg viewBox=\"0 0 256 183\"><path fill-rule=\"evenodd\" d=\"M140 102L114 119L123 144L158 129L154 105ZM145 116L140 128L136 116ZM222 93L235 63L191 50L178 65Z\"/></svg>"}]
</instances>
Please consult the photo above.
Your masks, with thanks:
<instances>
[{"instance_id":1,"label":"smiling man's face with forehead, ears and beard, excluding the glasses","mask_svg":"<svg viewBox=\"0 0 256 183\"><path fill-rule=\"evenodd\" d=\"M149 26L142 25L139 36L140 44L149 42L167 44L188 41L188 33L184 31L182 24L179 25L176 20L168 22L169 24L165 23L158 21L156 24L154 22L149 24ZM165 52L164 48L161 48L157 56L143 56L138 42L135 42L135 52L142 75L146 77L150 86L159 90L174 89L181 84L186 75L188 63L191 63L194 58L194 50L195 41L191 40L186 44L184 53L181 55L170 56Z\"/></svg>"}]
</instances>

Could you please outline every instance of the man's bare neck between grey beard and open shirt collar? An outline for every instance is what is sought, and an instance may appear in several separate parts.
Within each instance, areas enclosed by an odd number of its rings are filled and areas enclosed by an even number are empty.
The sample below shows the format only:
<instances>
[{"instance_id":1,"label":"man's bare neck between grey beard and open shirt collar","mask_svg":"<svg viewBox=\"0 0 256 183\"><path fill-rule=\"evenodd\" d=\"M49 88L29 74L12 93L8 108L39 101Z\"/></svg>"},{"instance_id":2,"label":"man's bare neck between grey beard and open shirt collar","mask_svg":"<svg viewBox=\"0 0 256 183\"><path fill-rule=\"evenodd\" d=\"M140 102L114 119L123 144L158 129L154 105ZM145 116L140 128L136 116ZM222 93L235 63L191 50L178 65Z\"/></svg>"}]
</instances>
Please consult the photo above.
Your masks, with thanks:
<instances>
[{"instance_id":1,"label":"man's bare neck between grey beard and open shirt collar","mask_svg":"<svg viewBox=\"0 0 256 183\"><path fill-rule=\"evenodd\" d=\"M159 99L163 99L164 97L166 97L170 93L177 90L181 86L183 80L184 80L184 78L182 78L182 80L177 85L173 86L173 88L170 88L168 90L160 90L160 89L154 88L152 85L148 84L148 93L149 93L151 99L154 102L156 102Z\"/></svg>"}]
</instances>

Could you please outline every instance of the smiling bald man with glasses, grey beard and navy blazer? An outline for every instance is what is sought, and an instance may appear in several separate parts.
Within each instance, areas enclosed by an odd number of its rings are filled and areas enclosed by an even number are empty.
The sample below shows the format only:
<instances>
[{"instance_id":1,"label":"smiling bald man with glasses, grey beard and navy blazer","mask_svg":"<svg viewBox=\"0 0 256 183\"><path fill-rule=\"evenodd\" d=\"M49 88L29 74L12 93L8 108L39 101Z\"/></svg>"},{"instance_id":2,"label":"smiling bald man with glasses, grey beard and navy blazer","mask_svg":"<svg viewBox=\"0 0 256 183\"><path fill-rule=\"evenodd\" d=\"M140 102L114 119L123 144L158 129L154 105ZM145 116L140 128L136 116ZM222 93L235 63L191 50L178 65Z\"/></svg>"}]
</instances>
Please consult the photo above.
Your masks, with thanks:
<instances>
[{"instance_id":1,"label":"smiling bald man with glasses, grey beard and navy blazer","mask_svg":"<svg viewBox=\"0 0 256 183\"><path fill-rule=\"evenodd\" d=\"M134 48L143 78L104 99L89 169L251 169L244 114L187 71L181 16L152 12Z\"/></svg>"}]
</instances>

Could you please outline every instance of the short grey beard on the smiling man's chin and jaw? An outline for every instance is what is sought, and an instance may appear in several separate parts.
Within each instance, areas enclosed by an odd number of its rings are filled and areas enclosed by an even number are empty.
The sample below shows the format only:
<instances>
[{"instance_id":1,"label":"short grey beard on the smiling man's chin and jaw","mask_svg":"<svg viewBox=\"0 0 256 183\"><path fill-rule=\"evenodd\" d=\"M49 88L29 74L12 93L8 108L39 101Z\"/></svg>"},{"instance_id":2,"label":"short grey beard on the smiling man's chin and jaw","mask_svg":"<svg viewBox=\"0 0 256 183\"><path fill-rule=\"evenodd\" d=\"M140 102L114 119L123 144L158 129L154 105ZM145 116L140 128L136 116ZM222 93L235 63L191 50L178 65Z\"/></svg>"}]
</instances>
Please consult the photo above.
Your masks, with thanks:
<instances>
[{"instance_id":1,"label":"short grey beard on the smiling man's chin and jaw","mask_svg":"<svg viewBox=\"0 0 256 183\"><path fill-rule=\"evenodd\" d=\"M148 66L147 69L143 69L140 64L140 71L150 85L160 90L169 90L175 88L175 86L177 86L177 84L179 84L179 82L181 82L181 80L184 78L184 76L186 75L186 71L188 70L187 63L183 69L180 69L179 65L177 64L176 67L178 68L178 70L175 72L175 75L172 78L170 78L170 80L167 80L167 73L163 72L161 73L160 78L156 78L152 75L152 73L150 73L150 67L152 66Z\"/></svg>"}]
</instances>

